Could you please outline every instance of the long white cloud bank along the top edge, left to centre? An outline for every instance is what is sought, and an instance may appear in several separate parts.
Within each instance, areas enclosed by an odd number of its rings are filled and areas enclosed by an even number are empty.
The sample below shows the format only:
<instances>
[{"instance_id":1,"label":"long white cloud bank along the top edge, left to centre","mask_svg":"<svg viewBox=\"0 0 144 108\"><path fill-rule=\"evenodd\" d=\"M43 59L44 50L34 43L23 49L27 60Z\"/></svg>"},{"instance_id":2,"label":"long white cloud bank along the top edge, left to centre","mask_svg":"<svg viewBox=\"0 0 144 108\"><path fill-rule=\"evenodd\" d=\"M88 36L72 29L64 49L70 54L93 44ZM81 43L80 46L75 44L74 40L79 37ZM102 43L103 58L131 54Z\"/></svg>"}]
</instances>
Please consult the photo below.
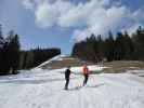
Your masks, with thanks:
<instances>
[{"instance_id":1,"label":"long white cloud bank along the top edge, left to centre","mask_svg":"<svg viewBox=\"0 0 144 108\"><path fill-rule=\"evenodd\" d=\"M75 5L69 0L24 0L26 9L35 8L36 23L40 27L76 27L87 25L87 18L95 8L108 5L109 0L92 0ZM55 19L56 18L56 19Z\"/></svg>"}]
</instances>

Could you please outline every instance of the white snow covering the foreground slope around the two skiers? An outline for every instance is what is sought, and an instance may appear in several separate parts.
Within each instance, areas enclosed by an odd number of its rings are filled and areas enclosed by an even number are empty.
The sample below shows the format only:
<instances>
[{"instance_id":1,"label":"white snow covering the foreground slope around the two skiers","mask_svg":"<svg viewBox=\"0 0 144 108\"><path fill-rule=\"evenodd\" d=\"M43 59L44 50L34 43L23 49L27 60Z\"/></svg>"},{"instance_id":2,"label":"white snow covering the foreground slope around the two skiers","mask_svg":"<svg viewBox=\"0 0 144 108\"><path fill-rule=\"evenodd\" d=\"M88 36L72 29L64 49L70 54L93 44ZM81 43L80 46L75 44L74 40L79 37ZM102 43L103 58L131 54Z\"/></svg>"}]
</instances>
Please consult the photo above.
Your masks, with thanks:
<instances>
[{"instance_id":1,"label":"white snow covering the foreground slope around the two skiers","mask_svg":"<svg viewBox=\"0 0 144 108\"><path fill-rule=\"evenodd\" d=\"M80 68L71 69L80 72ZM69 90L65 91L63 71L35 68L0 77L0 108L144 108L142 77L130 72L91 75L81 87L83 77L71 73Z\"/></svg>"}]
</instances>

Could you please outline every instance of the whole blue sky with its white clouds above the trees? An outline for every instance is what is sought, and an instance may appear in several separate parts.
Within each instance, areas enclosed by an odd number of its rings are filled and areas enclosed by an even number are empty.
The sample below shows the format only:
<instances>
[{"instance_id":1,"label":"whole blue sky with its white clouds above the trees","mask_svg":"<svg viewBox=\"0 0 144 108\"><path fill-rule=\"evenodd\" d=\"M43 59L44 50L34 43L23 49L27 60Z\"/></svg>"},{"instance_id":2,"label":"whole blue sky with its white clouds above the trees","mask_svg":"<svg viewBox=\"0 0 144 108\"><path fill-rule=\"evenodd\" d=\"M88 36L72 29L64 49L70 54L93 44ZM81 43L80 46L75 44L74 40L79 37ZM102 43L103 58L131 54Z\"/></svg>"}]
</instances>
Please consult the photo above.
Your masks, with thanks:
<instances>
[{"instance_id":1,"label":"whole blue sky with its white clouds above the trees","mask_svg":"<svg viewBox=\"0 0 144 108\"><path fill-rule=\"evenodd\" d=\"M0 0L0 24L4 35L21 36L22 49L61 48L69 54L91 32L134 31L144 25L143 11L144 0Z\"/></svg>"}]
</instances>

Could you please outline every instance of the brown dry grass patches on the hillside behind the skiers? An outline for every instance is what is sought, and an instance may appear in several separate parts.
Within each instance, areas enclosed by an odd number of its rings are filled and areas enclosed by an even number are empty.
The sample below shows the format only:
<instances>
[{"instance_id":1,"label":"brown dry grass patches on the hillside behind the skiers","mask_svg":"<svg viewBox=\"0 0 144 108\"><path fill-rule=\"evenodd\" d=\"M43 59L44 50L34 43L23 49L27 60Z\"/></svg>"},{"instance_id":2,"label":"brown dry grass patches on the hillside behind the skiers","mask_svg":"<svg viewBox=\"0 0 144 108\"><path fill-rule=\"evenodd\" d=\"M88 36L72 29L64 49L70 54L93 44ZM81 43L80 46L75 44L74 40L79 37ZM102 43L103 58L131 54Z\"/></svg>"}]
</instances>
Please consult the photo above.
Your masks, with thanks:
<instances>
[{"instance_id":1,"label":"brown dry grass patches on the hillside behind the skiers","mask_svg":"<svg viewBox=\"0 0 144 108\"><path fill-rule=\"evenodd\" d=\"M60 69L67 66L76 67L83 64L79 58L74 57L63 57L61 60L53 60L44 66L43 69ZM96 65L92 63L87 63L88 65ZM115 60L102 64L105 68L102 72L119 73L125 72L126 70L138 70L144 69L144 62L138 60Z\"/></svg>"}]
</instances>

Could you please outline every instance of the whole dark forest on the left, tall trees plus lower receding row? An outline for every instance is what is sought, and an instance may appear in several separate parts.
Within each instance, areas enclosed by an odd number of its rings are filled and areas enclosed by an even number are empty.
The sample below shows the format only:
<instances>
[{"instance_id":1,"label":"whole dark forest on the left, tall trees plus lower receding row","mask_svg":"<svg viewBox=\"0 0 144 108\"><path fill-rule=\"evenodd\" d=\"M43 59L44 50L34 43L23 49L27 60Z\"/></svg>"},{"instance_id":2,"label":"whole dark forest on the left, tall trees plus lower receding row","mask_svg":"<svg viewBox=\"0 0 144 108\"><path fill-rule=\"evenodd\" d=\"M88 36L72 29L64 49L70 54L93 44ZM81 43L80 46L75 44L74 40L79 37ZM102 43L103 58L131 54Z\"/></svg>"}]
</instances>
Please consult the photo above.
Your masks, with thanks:
<instances>
[{"instance_id":1,"label":"whole dark forest on the left, tall trees plus lower receding row","mask_svg":"<svg viewBox=\"0 0 144 108\"><path fill-rule=\"evenodd\" d=\"M36 67L58 54L61 49L57 48L21 50L19 36L14 31L3 36L0 25L0 76L14 75L18 69Z\"/></svg>"}]
</instances>

